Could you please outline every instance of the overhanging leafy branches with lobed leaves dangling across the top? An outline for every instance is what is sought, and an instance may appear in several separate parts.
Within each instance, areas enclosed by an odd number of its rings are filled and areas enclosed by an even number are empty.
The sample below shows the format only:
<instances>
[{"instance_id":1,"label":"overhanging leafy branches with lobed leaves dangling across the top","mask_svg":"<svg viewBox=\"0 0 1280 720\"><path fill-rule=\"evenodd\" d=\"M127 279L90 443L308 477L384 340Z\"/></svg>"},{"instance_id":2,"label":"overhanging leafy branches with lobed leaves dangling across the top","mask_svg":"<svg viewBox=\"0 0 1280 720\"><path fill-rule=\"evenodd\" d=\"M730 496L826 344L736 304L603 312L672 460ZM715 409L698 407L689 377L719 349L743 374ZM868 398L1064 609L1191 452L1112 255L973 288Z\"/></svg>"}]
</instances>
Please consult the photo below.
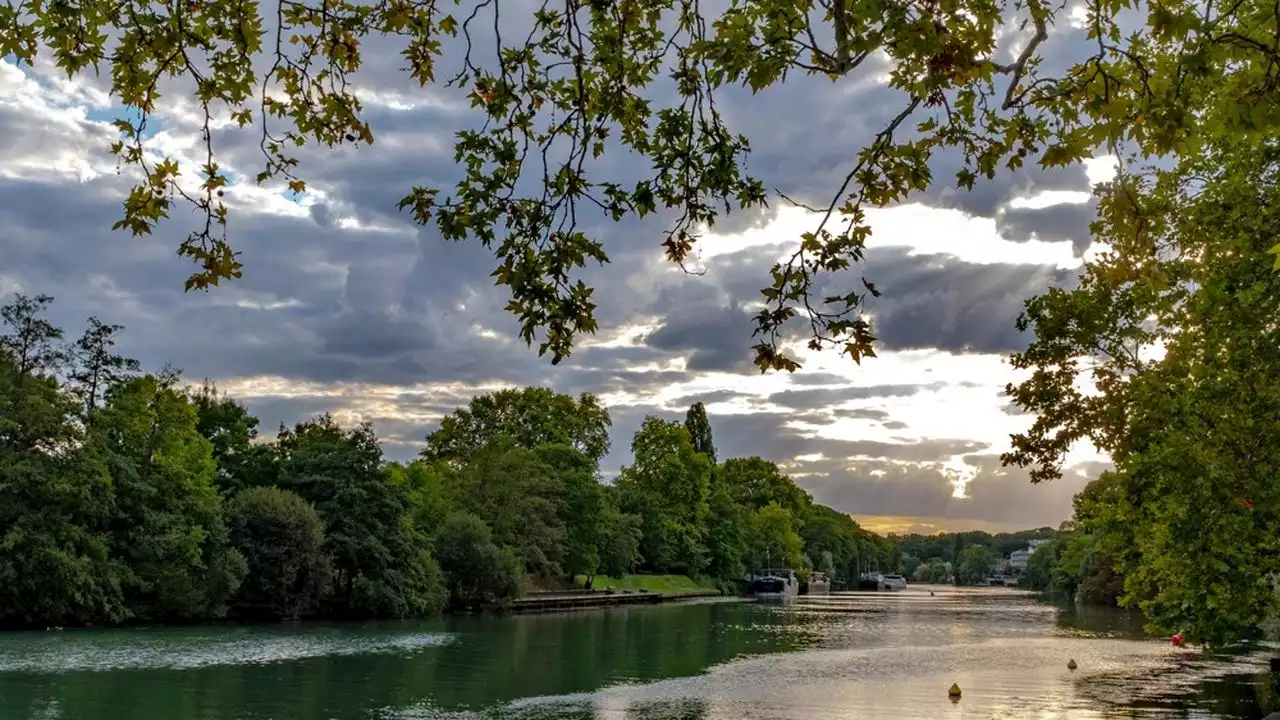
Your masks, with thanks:
<instances>
[{"instance_id":1,"label":"overhanging leafy branches with lobed leaves dangling across the top","mask_svg":"<svg viewBox=\"0 0 1280 720\"><path fill-rule=\"evenodd\" d=\"M150 233L177 204L193 205L201 219L178 247L198 265L187 287L209 288L242 270L227 234L233 168L220 163L212 128L228 122L260 140L261 172L236 173L305 191L298 146L374 142L355 86L370 44L393 44L412 78L466 96L477 119L457 132L456 187L406 188L401 208L447 240L490 249L521 337L536 338L553 361L596 327L593 288L581 279L589 263L608 261L600 237L585 229L595 218L663 213L660 245L682 264L718 218L768 201L769 178L748 172L749 138L735 133L717 97L796 76L886 82L897 104L844 159L847 174L829 200L794 200L817 217L762 291L754 352L764 370L797 366L783 351L796 336L855 360L874 354L861 310L877 291L847 273L870 233L867 210L927 188L931 159L943 150L963 158L945 179L963 188L1005 168L1115 155L1121 174L1100 191L1101 215L1130 222L1096 233L1138 263L1149 245L1135 223L1160 208L1156 188L1133 179L1130 167L1211 160L1213 138L1256 146L1275 135L1280 17L1270 4L1137 9L1089 0L1078 32L1074 6L1042 0L739 0L714 12L691 0L515 9L337 0L279 13L228 0L88 0L6 8L0 54L24 63L47 55L70 77L110 74L113 96L131 110L116 120L111 150L137 169L116 227ZM1059 36L1069 64L1046 54ZM204 117L198 168L180 168L154 143L161 78ZM611 172L623 154L648 168ZM819 292L833 277L844 287Z\"/></svg>"}]
</instances>

